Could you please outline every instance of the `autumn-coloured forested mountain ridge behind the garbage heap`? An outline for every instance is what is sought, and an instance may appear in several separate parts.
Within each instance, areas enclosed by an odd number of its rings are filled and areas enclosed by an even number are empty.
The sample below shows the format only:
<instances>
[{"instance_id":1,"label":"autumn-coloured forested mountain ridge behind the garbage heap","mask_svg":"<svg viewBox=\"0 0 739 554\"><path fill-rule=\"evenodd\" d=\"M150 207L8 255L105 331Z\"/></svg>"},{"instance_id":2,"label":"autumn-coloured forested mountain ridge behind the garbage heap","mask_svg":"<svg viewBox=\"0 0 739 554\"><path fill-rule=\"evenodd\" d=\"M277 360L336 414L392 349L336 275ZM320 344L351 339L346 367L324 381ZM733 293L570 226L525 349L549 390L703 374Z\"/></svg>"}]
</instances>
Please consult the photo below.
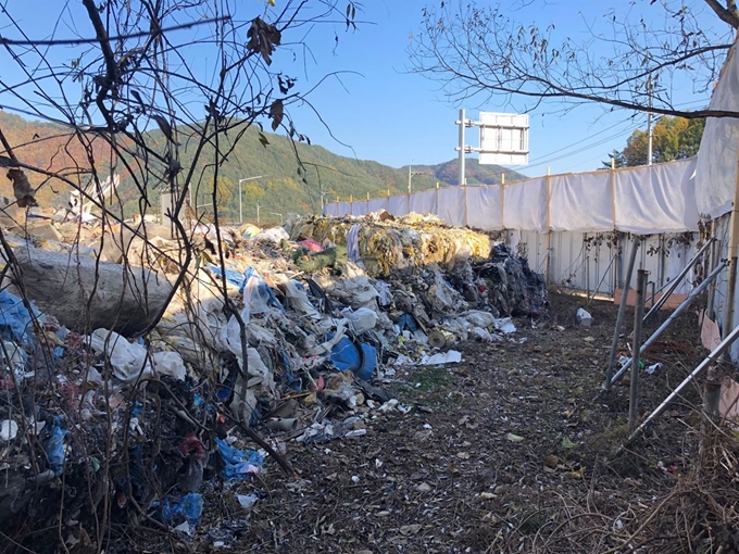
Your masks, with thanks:
<instances>
[{"instance_id":1,"label":"autumn-coloured forested mountain ridge behind the garbage heap","mask_svg":"<svg viewBox=\"0 0 739 554\"><path fill-rule=\"evenodd\" d=\"M59 171L73 167L84 152L79 144L70 141L72 134L59 125L37 121L28 121L18 115L0 110L0 128L8 138L15 155L46 171ZM158 147L164 146L159 130L150 133ZM264 144L266 139L266 144ZM229 139L225 138L226 142ZM104 141L99 140L100 152ZM179 162L183 166L180 176L187 175L192 166L195 148L191 141L181 141ZM17 144L17 148L16 148ZM95 141L93 141L95 144ZM231 146L230 143L228 144ZM98 147L96 147L98 148ZM303 164L299 172L296 153ZM206 149L201 163L192 172L191 201L199 213L212 210L212 173L204 172L205 163L214 159L212 149ZM413 191L426 190L437 186L455 186L458 179L458 160L453 159L439 164L413 165L411 177ZM226 222L243 221L260 223L277 222L288 213L308 214L320 212L322 199L325 203L339 200L365 200L388 194L403 194L409 188L409 166L394 168L372 160L358 160L333 153L318 144L290 142L284 135L260 131L252 125L243 134L227 161L218 168L218 207L220 217ZM421 173L421 174L418 174ZM70 188L59 179L48 179L38 174L27 172L32 185L40 187L37 193L39 204L61 206L66 204ZM526 178L524 175L498 165L480 166L475 159L466 161L466 178L468 185L494 185L501 181L511 182ZM202 177L205 175L205 177ZM260 178L254 178L260 176ZM130 177L122 175L118 193L124 203L124 215L131 216L138 212L140 192L133 186ZM241 199L239 187L241 180ZM83 184L84 185L84 184ZM148 189L149 192L151 192ZM7 179L0 179L0 194L12 198L12 187ZM150 199L152 207L159 209L156 198ZM210 206L210 207L209 207ZM240 209L239 209L240 206Z\"/></svg>"}]
</instances>

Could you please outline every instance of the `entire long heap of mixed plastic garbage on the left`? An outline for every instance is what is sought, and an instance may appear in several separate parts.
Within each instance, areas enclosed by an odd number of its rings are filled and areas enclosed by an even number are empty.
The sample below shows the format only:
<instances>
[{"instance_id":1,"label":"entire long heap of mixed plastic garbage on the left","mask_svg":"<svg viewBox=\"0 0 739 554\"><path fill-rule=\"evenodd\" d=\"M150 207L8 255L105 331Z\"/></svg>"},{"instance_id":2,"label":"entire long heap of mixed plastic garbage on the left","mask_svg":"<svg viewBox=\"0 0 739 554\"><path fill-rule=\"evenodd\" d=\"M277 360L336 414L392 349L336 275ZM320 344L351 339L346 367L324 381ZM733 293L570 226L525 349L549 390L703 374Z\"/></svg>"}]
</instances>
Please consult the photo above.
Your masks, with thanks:
<instances>
[{"instance_id":1,"label":"entire long heap of mixed plastic garbage on the left","mask_svg":"<svg viewBox=\"0 0 739 554\"><path fill-rule=\"evenodd\" d=\"M459 362L459 341L505 340L511 315L546 309L543 280L524 259L434 217L311 217L288 230L205 229L163 317L140 337L116 314L91 328L104 313L76 320L48 299L0 293L4 536L35 552L58 550L60 538L102 547L131 525L202 537L202 520L223 515L204 506L234 514L259 501L249 479L265 456L289 469L280 453L289 458L290 444L361 437L373 415L410 410L381 387L399 367ZM14 244L33 268L38 243ZM126 262L161 287L175 280L162 252L177 244L155 244ZM75 254L78 274L87 254ZM95 275L121 267L87 265ZM222 520L209 540L227 546L246 525Z\"/></svg>"}]
</instances>

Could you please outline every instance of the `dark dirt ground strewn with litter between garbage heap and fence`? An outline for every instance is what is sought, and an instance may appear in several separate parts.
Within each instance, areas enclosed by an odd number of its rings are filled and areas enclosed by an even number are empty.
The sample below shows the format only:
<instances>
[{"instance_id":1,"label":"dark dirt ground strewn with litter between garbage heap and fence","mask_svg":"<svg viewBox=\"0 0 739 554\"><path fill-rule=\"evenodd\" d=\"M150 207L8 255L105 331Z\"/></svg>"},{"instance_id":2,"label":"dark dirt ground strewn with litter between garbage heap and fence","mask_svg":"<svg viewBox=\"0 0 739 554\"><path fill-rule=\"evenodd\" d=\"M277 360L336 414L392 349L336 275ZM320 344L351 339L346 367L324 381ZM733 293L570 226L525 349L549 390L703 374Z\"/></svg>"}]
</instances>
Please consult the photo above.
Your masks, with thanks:
<instances>
[{"instance_id":1,"label":"dark dirt ground strewn with litter between garbage heap and fence","mask_svg":"<svg viewBox=\"0 0 739 554\"><path fill-rule=\"evenodd\" d=\"M575 322L585 302L552 291L550 316L516 319L506 340L461 344L460 364L399 370L380 386L402 412L375 415L361 437L287 442L298 476L270 461L252 481L214 486L196 537L172 536L149 550L700 552L674 529L628 542L692 470L698 389L615 456L627 435L628 381L596 395L617 306L593 302L585 328ZM630 310L626 322L630 332ZM663 367L641 373L641 417L705 356L697 322L694 312L685 314L644 356ZM259 500L245 509L237 494L250 493ZM150 540L120 531L138 544Z\"/></svg>"}]
</instances>

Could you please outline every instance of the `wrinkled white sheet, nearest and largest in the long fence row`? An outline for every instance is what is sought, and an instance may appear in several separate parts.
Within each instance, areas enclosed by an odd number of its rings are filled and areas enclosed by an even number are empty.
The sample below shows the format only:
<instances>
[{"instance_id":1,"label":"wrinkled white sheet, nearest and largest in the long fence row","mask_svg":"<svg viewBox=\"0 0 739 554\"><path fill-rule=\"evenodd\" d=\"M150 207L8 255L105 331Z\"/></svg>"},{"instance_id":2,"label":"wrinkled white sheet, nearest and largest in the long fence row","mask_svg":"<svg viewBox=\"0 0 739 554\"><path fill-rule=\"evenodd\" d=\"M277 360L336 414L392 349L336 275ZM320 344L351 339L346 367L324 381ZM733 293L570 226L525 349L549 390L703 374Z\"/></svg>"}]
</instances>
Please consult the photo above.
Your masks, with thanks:
<instances>
[{"instance_id":1,"label":"wrinkled white sheet, nearest and largest in the long fence row","mask_svg":"<svg viewBox=\"0 0 739 554\"><path fill-rule=\"evenodd\" d=\"M616 172L616 227L652 235L698 228L694 160Z\"/></svg>"}]
</instances>

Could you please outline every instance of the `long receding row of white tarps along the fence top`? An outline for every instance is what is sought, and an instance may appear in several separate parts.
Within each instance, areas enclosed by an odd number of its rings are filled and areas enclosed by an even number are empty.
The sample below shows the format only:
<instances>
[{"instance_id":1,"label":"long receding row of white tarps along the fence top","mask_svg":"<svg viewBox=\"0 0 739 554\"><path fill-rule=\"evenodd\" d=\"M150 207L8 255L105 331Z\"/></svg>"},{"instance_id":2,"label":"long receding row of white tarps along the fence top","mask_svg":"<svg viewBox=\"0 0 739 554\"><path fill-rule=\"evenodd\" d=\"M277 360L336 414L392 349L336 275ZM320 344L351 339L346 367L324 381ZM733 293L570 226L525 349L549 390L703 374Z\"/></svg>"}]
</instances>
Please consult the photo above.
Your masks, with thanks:
<instances>
[{"instance_id":1,"label":"long receding row of white tarps along the fence top","mask_svg":"<svg viewBox=\"0 0 739 554\"><path fill-rule=\"evenodd\" d=\"M696 160L510 185L446 187L385 199L326 204L326 215L433 213L450 225L546 232L621 230L652 235L698 229ZM732 189L731 189L732 190Z\"/></svg>"}]
</instances>

